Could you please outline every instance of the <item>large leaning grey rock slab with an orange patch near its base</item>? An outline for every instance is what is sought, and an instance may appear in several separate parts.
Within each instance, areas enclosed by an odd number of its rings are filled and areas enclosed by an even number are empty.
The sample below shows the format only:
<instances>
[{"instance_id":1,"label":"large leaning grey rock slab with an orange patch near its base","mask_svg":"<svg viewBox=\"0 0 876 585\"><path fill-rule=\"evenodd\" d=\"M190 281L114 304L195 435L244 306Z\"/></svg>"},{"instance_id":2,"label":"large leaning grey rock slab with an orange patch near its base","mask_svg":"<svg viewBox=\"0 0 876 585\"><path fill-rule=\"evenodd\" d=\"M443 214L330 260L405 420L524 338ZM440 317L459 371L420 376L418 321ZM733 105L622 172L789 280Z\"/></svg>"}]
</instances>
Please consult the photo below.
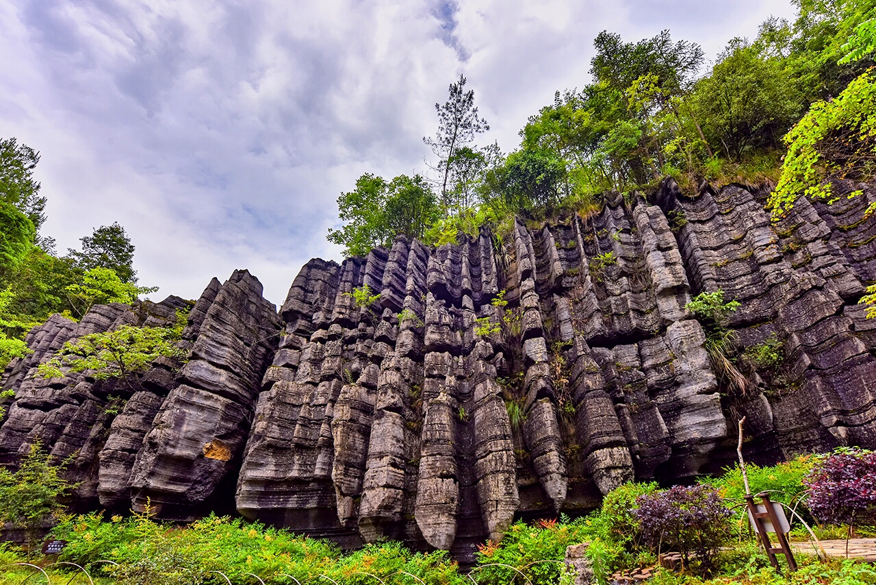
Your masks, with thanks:
<instances>
[{"instance_id":1,"label":"large leaning grey rock slab with an orange patch near its base","mask_svg":"<svg viewBox=\"0 0 876 585\"><path fill-rule=\"evenodd\" d=\"M227 506L237 479L259 382L277 347L279 318L249 272L235 271L211 303L146 435L131 474L135 508L191 519L208 498ZM218 491L217 491L218 489Z\"/></svg>"}]
</instances>

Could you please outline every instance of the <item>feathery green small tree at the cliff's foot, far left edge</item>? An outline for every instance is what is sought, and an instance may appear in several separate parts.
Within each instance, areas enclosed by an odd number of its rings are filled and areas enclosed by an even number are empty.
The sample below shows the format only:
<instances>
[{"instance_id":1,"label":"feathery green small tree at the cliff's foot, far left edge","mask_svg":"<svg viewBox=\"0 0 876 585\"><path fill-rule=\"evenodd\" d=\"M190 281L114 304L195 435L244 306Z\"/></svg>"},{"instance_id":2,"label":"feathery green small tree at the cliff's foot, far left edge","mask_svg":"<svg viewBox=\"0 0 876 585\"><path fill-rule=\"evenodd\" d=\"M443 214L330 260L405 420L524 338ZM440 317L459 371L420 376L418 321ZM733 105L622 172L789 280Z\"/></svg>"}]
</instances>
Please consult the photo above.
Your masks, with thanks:
<instances>
[{"instance_id":1,"label":"feathery green small tree at the cliff's foot, far left edge","mask_svg":"<svg viewBox=\"0 0 876 585\"><path fill-rule=\"evenodd\" d=\"M61 478L64 466L52 465L36 441L19 462L17 471L0 467L0 524L23 528L28 548L46 523L64 510L62 498L75 486Z\"/></svg>"}]
</instances>

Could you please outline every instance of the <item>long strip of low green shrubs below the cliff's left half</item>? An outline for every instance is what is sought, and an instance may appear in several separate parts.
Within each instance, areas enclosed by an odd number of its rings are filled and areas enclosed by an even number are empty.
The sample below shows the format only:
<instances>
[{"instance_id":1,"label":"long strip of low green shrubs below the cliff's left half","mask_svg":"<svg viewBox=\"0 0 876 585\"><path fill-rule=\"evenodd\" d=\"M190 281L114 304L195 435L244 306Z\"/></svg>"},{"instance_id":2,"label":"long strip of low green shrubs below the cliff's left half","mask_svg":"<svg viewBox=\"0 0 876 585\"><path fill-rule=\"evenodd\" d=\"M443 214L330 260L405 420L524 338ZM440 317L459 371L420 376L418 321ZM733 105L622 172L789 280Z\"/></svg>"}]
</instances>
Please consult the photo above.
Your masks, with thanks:
<instances>
[{"instance_id":1,"label":"long strip of low green shrubs below the cliff's left half","mask_svg":"<svg viewBox=\"0 0 876 585\"><path fill-rule=\"evenodd\" d=\"M118 566L94 565L93 574L110 574L125 584L226 582L211 571L221 571L235 583L258 582L247 573L257 574L270 585L293 582L284 574L302 583L330 582L319 576L323 574L355 585L377 582L369 574L396 582L399 571L427 585L462 585L464 579L448 553L411 553L398 542L342 554L328 541L244 524L240 518L209 516L180 529L154 522L149 511L112 517L111 522L100 514L70 518L53 531L55 538L67 540L60 560L81 565L113 560Z\"/></svg>"}]
</instances>

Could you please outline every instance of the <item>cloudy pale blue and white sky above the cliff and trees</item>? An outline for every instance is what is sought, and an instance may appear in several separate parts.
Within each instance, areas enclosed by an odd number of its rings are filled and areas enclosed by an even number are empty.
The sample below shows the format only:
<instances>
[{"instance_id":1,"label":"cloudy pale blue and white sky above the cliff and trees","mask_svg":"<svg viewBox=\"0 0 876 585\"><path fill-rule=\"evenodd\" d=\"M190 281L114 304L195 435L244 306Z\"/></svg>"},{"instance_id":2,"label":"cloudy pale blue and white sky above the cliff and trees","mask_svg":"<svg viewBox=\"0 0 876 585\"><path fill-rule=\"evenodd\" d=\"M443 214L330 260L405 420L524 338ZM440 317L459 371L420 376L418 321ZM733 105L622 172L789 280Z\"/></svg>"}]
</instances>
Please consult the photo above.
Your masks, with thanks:
<instances>
[{"instance_id":1,"label":"cloudy pale blue and white sky above the cliff and trees","mask_svg":"<svg viewBox=\"0 0 876 585\"><path fill-rule=\"evenodd\" d=\"M460 74L519 145L592 42L669 29L714 60L788 0L0 0L0 138L39 150L42 235L63 253L115 221L139 284L197 298L248 268L281 304L336 199L370 172L424 173L434 103Z\"/></svg>"}]
</instances>

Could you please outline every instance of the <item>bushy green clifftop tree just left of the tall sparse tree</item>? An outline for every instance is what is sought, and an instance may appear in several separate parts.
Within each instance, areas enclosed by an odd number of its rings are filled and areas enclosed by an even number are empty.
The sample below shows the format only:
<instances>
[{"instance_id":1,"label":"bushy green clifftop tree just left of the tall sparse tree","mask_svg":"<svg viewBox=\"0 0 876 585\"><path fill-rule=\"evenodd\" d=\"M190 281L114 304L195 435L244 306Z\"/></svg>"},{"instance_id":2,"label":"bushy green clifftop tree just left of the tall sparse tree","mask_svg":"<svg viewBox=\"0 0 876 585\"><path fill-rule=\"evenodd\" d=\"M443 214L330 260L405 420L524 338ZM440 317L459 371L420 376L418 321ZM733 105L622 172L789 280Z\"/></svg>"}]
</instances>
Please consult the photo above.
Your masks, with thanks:
<instances>
[{"instance_id":1,"label":"bushy green clifftop tree just left of the tall sparse tree","mask_svg":"<svg viewBox=\"0 0 876 585\"><path fill-rule=\"evenodd\" d=\"M420 175L399 175L386 182L366 173L357 179L356 189L337 198L337 206L348 223L329 229L329 241L344 246L348 256L389 246L399 233L420 238L438 217L434 193Z\"/></svg>"}]
</instances>

